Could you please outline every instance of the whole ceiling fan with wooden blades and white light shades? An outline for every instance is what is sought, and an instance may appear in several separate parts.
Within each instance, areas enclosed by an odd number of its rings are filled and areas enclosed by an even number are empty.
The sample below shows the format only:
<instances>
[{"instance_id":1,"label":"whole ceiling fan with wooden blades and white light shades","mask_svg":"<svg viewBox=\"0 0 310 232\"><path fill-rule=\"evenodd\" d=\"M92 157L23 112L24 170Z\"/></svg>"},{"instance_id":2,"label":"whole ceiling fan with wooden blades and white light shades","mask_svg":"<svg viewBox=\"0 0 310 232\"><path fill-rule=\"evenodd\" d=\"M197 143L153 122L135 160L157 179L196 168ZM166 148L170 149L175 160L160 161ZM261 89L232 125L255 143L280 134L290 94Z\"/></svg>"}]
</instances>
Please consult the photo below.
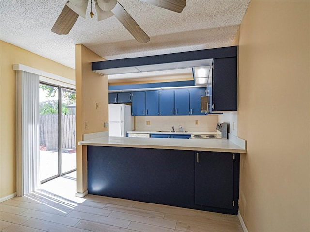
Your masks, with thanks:
<instances>
[{"instance_id":1,"label":"whole ceiling fan with wooden blades and white light shades","mask_svg":"<svg viewBox=\"0 0 310 232\"><path fill-rule=\"evenodd\" d=\"M91 1L91 17L94 15L92 12L94 1L98 21L115 15L118 21L123 24L123 26L138 42L147 43L150 41L147 34L140 28L138 23L130 16L130 14L128 14L118 0L68 0L51 31L59 35L68 34L77 21L78 16L85 18L88 1ZM186 0L140 1L178 13L182 12L183 8L186 6Z\"/></svg>"}]
</instances>

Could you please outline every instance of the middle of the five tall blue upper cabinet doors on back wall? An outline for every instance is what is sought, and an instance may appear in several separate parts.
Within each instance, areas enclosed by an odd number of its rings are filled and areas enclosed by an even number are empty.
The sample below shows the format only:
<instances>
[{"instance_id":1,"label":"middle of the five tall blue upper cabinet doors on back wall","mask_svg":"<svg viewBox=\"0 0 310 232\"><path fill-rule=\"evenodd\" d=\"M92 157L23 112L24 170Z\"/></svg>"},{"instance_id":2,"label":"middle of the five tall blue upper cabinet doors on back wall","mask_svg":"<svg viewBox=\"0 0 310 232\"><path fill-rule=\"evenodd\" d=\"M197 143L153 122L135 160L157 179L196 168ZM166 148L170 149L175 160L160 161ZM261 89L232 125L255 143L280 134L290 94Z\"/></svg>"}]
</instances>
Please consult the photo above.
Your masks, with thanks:
<instances>
[{"instance_id":1,"label":"middle of the five tall blue upper cabinet doors on back wall","mask_svg":"<svg viewBox=\"0 0 310 232\"><path fill-rule=\"evenodd\" d=\"M159 115L174 115L174 90L159 91Z\"/></svg>"}]
</instances>

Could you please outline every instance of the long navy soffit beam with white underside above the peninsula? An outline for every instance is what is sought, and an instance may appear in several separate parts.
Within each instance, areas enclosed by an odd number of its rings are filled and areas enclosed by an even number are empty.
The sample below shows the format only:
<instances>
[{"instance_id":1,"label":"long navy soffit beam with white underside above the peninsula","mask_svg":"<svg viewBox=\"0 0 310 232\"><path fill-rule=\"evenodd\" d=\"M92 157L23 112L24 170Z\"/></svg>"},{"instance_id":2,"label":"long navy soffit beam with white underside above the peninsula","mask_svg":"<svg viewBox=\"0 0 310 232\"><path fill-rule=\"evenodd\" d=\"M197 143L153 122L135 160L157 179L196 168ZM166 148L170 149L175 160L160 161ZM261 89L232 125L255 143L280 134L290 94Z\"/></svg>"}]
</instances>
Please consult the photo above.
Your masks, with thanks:
<instances>
[{"instance_id":1,"label":"long navy soffit beam with white underside above the peninsula","mask_svg":"<svg viewBox=\"0 0 310 232\"><path fill-rule=\"evenodd\" d=\"M92 62L92 70L102 75L139 73L210 65L214 58L237 56L237 46L179 52L147 57Z\"/></svg>"}]
</instances>

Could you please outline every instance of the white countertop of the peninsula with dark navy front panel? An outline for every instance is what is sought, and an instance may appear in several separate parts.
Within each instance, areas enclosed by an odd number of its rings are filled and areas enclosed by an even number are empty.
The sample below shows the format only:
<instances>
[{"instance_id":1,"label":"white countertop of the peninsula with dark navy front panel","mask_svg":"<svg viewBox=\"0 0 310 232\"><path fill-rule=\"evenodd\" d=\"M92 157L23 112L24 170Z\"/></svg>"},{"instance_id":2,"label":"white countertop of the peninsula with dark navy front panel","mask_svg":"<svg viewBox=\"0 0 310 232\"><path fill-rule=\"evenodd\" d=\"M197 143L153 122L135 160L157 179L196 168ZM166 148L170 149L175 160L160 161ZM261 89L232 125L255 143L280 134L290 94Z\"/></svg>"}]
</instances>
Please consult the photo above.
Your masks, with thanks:
<instances>
[{"instance_id":1,"label":"white countertop of the peninsula with dark navy front panel","mask_svg":"<svg viewBox=\"0 0 310 232\"><path fill-rule=\"evenodd\" d=\"M236 138L242 140L238 137L235 137L235 139ZM80 141L78 142L78 144L84 146L115 146L115 147L137 147L137 148L155 148L155 149L172 149L172 150L246 153L246 143L245 141L244 143L242 143L242 141L241 143L234 143L229 139L167 139L167 138L132 138L132 137L106 136ZM242 144L244 144L244 146Z\"/></svg>"}]
</instances>

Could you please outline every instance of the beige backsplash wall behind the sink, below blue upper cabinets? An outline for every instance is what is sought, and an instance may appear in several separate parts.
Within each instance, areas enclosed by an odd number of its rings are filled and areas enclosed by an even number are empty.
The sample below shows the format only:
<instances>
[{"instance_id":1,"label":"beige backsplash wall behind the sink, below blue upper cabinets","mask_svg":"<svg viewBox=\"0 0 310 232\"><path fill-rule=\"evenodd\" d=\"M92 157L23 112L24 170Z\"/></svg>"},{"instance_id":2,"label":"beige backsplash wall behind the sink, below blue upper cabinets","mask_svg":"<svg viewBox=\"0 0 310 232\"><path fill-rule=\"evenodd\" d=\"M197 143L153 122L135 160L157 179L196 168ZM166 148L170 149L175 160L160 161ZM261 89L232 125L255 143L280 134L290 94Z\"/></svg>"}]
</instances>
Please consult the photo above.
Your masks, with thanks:
<instances>
[{"instance_id":1,"label":"beige backsplash wall behind the sink, below blue upper cabinets","mask_svg":"<svg viewBox=\"0 0 310 232\"><path fill-rule=\"evenodd\" d=\"M147 121L150 125L147 125ZM195 124L198 121L198 124ZM136 131L176 131L182 125L183 131L216 132L218 122L217 115L198 116L135 116Z\"/></svg>"}]
</instances>

